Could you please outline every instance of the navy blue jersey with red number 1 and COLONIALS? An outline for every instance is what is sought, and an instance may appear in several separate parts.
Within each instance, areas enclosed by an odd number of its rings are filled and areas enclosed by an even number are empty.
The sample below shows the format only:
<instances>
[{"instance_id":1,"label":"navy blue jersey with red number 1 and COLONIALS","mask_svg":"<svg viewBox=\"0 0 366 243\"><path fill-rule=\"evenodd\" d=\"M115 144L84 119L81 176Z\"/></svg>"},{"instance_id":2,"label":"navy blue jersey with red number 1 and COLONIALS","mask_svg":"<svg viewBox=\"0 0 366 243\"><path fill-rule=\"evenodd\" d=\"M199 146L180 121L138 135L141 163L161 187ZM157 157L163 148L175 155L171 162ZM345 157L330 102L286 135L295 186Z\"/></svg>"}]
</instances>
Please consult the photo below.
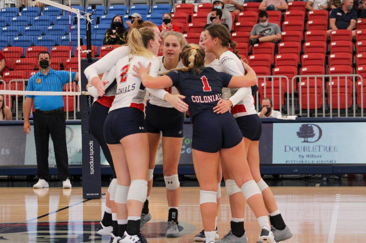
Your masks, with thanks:
<instances>
[{"instance_id":1,"label":"navy blue jersey with red number 1 and COLONIALS","mask_svg":"<svg viewBox=\"0 0 366 243\"><path fill-rule=\"evenodd\" d=\"M200 74L192 71L171 71L166 74L179 92L186 96L191 120L194 115L212 110L217 101L223 98L222 88L227 87L232 75L216 72L212 67L203 68Z\"/></svg>"}]
</instances>

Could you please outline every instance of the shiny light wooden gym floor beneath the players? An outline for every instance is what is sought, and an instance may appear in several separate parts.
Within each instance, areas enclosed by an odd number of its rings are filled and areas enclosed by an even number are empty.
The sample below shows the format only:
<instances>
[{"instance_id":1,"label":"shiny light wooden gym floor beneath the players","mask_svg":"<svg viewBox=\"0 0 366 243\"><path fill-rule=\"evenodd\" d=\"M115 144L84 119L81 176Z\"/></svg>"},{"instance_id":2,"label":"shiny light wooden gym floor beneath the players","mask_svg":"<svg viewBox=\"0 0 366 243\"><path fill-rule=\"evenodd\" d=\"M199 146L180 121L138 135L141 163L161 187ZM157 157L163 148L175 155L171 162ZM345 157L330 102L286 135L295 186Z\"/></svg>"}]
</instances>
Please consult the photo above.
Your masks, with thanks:
<instances>
[{"instance_id":1,"label":"shiny light wooden gym floor beneath the players","mask_svg":"<svg viewBox=\"0 0 366 243\"><path fill-rule=\"evenodd\" d=\"M294 236L284 243L366 243L365 187L271 187L277 204ZM179 206L180 238L167 239L167 201L164 187L154 187L150 197L153 219L143 235L149 243L194 242L202 230L199 188L182 187ZM222 190L218 229L220 238L229 231L229 201ZM102 188L105 193L107 188ZM24 242L109 242L96 235L105 204L83 200L82 189L0 188L0 243ZM256 242L259 226L246 206L244 227L249 242Z\"/></svg>"}]
</instances>

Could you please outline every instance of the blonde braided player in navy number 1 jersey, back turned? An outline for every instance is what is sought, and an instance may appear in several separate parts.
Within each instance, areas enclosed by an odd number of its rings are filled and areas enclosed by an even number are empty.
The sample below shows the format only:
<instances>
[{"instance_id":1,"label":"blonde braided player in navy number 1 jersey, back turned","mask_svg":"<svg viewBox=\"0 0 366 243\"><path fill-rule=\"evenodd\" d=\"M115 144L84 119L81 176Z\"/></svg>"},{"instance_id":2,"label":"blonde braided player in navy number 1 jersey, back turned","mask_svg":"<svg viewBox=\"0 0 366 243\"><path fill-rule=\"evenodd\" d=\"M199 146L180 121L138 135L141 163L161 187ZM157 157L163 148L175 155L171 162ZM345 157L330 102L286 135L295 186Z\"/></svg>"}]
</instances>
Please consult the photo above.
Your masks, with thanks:
<instances>
[{"instance_id":1,"label":"blonde braided player in navy number 1 jersey, back turned","mask_svg":"<svg viewBox=\"0 0 366 243\"><path fill-rule=\"evenodd\" d=\"M184 67L178 72L172 71L161 77L152 77L149 67L139 63L134 66L136 77L149 88L167 88L177 86L186 96L191 121L193 122L192 155L193 164L200 186L200 206L205 230L206 242L213 243L215 238L215 217L217 215L217 166L220 155L225 167L233 174L242 193L254 211L262 227L259 240L275 242L269 227L266 208L261 191L249 173L243 136L234 117L229 113L214 113L213 107L222 98L223 87L250 87L256 83L255 72L247 64L246 76L231 76L218 73L210 67L204 67L205 52L195 44L183 47Z\"/></svg>"}]
</instances>

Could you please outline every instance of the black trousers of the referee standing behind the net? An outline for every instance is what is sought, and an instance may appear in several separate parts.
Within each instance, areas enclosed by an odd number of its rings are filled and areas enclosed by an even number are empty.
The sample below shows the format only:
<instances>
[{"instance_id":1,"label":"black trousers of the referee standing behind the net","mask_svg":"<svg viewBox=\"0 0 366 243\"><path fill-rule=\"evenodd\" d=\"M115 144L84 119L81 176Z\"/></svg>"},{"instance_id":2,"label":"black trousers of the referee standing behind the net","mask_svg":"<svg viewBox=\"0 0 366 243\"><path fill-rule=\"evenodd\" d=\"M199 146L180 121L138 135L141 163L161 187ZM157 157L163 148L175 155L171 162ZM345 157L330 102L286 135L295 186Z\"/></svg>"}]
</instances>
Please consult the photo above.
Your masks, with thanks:
<instances>
[{"instance_id":1,"label":"black trousers of the referee standing behind the net","mask_svg":"<svg viewBox=\"0 0 366 243\"><path fill-rule=\"evenodd\" d=\"M59 171L60 180L65 181L70 178L70 172L68 170L66 121L63 109L52 114L44 114L36 110L33 113L33 121L38 178L49 181L48 143L51 134L57 170Z\"/></svg>"}]
</instances>

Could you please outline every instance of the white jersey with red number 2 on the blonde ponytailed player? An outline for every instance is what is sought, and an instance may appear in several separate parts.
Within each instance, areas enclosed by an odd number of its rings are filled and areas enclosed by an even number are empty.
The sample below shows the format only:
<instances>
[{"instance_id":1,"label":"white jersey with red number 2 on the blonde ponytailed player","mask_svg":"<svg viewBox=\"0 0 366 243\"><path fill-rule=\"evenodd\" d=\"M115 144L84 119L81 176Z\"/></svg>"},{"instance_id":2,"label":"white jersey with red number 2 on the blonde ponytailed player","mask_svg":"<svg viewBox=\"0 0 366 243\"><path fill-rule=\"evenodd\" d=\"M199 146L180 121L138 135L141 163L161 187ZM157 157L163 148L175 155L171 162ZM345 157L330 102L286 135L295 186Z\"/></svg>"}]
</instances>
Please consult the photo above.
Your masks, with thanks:
<instances>
[{"instance_id":1,"label":"white jersey with red number 2 on the blonde ponytailed player","mask_svg":"<svg viewBox=\"0 0 366 243\"><path fill-rule=\"evenodd\" d=\"M132 67L134 65L138 66L139 62L144 67L151 62L149 75L157 77L160 67L157 57L149 59L142 56L126 56L120 59L115 68L115 77L117 80L116 96L109 111L123 107L134 107L143 112L146 89L142 85L141 78L132 75L135 73Z\"/></svg>"}]
</instances>

